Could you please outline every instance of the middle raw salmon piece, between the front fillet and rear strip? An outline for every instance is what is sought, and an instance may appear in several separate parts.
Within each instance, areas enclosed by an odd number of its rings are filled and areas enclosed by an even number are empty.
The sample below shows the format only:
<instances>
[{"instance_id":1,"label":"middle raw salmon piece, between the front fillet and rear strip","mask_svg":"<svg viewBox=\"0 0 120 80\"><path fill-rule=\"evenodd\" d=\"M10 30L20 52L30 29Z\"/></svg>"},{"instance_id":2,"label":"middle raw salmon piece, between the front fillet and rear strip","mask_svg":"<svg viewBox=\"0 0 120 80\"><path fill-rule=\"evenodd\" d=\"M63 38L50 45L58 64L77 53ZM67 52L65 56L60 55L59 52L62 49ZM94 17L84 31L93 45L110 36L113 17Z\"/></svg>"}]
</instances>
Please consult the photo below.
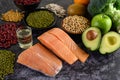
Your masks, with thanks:
<instances>
[{"instance_id":1,"label":"middle raw salmon piece, between the front fillet and rear strip","mask_svg":"<svg viewBox=\"0 0 120 80\"><path fill-rule=\"evenodd\" d=\"M73 64L78 59L66 45L64 45L58 38L56 38L52 34L45 32L40 35L38 39L42 44L52 50L57 56L59 56L67 63Z\"/></svg>"}]
</instances>

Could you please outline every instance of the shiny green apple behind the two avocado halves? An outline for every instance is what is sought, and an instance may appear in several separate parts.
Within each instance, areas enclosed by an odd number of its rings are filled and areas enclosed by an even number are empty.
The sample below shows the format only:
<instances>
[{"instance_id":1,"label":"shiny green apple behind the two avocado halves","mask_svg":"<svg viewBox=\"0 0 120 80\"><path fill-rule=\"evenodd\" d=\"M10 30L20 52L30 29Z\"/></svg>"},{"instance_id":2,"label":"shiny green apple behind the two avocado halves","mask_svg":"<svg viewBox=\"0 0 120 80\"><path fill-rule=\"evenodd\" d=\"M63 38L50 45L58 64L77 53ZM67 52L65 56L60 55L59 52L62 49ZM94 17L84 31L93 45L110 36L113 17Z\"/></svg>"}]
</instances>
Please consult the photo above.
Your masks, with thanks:
<instances>
[{"instance_id":1,"label":"shiny green apple behind the two avocado halves","mask_svg":"<svg viewBox=\"0 0 120 80\"><path fill-rule=\"evenodd\" d=\"M98 27L102 34L105 34L111 29L112 20L105 14L97 14L92 18L91 26Z\"/></svg>"}]
</instances>

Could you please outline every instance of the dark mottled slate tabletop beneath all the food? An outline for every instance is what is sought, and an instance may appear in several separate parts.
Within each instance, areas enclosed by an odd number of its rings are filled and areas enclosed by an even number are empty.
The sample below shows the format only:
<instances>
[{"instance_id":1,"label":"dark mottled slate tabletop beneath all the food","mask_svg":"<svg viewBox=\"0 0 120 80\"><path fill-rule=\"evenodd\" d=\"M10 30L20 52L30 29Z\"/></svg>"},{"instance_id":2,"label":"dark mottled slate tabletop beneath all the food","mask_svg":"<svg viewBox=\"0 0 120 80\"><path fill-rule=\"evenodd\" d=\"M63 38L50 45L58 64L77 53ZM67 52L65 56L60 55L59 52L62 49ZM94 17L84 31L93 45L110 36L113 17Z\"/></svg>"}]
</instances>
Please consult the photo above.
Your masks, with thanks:
<instances>
[{"instance_id":1,"label":"dark mottled slate tabletop beneath all the food","mask_svg":"<svg viewBox=\"0 0 120 80\"><path fill-rule=\"evenodd\" d=\"M42 0L39 7L48 3L57 3L67 9L67 6L72 3L72 0ZM38 7L38 8L39 8ZM0 0L0 14L10 9L18 9L12 0ZM61 19L58 19L56 26L60 26ZM3 23L0 21L0 23ZM34 44L37 41L36 37L43 31L33 32ZM86 63L77 61L73 65L68 65L63 62L63 68L55 77L47 77L40 72L31 70L25 66L15 63L15 72L5 77L5 80L120 80L120 49L109 55L100 55L98 51L91 52L87 50L81 43L81 35L70 35L75 42L86 52L90 57ZM8 50L13 51L17 56L23 51L18 44L11 46Z\"/></svg>"}]
</instances>

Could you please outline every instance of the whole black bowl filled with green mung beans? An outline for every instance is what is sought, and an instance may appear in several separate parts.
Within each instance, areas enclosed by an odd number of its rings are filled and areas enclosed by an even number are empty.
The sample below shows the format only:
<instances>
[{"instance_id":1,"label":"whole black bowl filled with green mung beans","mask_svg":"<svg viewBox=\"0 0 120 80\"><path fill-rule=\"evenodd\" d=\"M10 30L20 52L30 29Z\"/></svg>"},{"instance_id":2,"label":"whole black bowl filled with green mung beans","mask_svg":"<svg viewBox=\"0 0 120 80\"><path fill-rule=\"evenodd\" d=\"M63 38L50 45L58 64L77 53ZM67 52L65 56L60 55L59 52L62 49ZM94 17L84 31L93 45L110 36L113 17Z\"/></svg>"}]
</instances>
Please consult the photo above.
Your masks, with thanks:
<instances>
[{"instance_id":1,"label":"whole black bowl filled with green mung beans","mask_svg":"<svg viewBox=\"0 0 120 80\"><path fill-rule=\"evenodd\" d=\"M25 13L25 23L33 30L48 29L56 24L56 15L48 9L35 9Z\"/></svg>"}]
</instances>

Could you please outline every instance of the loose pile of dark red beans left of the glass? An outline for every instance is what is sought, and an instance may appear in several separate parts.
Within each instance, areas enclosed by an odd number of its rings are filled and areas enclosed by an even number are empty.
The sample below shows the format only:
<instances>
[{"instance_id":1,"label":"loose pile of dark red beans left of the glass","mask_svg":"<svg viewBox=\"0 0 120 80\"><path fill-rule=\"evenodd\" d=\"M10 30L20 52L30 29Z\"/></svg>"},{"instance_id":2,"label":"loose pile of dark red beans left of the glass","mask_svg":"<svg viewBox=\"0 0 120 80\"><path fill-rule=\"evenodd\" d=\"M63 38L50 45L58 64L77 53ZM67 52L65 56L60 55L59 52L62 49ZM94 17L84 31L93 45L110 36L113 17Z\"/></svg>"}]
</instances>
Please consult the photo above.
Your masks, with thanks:
<instances>
[{"instance_id":1,"label":"loose pile of dark red beans left of the glass","mask_svg":"<svg viewBox=\"0 0 120 80\"><path fill-rule=\"evenodd\" d=\"M15 23L5 23L0 25L0 47L8 48L17 43L17 25Z\"/></svg>"}]
</instances>

